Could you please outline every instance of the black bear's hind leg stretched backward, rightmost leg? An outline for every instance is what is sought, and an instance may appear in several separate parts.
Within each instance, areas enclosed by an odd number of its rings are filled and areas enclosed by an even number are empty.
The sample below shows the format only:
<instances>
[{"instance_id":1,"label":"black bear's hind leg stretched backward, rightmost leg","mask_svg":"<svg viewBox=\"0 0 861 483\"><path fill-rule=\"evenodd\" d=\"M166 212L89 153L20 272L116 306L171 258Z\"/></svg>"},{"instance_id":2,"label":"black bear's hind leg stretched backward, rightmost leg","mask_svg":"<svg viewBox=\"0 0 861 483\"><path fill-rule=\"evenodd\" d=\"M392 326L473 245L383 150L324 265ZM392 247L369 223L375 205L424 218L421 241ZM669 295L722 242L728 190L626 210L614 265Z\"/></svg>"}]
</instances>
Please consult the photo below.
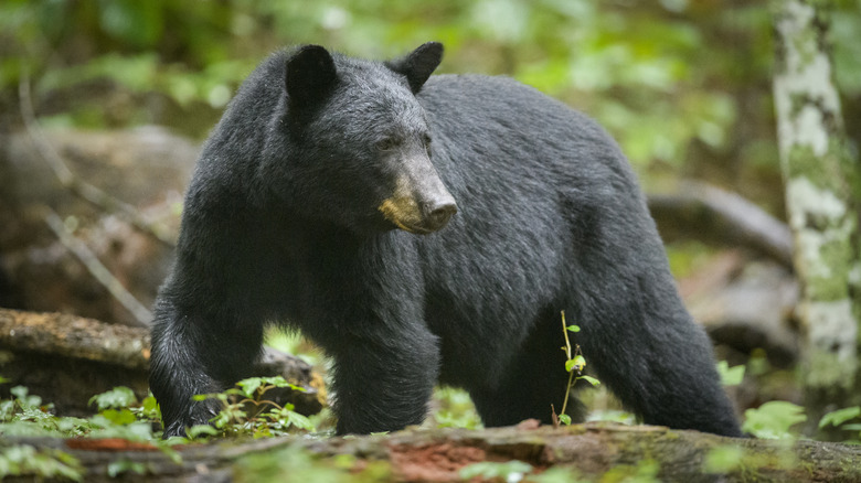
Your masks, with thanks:
<instances>
[{"instance_id":1,"label":"black bear's hind leg stretched backward, rightmost leg","mask_svg":"<svg viewBox=\"0 0 861 483\"><path fill-rule=\"evenodd\" d=\"M605 299L577 334L587 363L648 425L741 436L709 337L669 283L656 287L607 291L616 296Z\"/></svg>"}]
</instances>

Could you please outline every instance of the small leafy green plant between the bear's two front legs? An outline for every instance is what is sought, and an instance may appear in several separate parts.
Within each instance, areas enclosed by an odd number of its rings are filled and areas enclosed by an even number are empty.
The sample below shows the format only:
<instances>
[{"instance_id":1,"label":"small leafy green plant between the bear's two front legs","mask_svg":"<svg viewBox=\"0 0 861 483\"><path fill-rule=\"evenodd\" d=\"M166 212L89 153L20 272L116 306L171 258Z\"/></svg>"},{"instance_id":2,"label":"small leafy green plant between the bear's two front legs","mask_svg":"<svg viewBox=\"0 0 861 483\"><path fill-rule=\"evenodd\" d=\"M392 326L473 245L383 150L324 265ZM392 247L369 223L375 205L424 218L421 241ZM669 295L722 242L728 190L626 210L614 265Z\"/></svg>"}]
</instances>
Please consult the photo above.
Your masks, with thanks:
<instances>
[{"instance_id":1,"label":"small leafy green plant between the bear's two front legs","mask_svg":"<svg viewBox=\"0 0 861 483\"><path fill-rule=\"evenodd\" d=\"M280 406L264 399L264 395L275 388L305 391L305 388L288 383L281 376L249 377L240 380L236 383L236 387L223 393L194 396L194 400L217 399L221 401L223 408L212 419L212 423L222 434L263 438L286 434L297 429L313 431L311 421L294 411L291 404ZM195 426L189 430L189 436L194 439L201 436L213 436L219 431L210 426Z\"/></svg>"}]
</instances>

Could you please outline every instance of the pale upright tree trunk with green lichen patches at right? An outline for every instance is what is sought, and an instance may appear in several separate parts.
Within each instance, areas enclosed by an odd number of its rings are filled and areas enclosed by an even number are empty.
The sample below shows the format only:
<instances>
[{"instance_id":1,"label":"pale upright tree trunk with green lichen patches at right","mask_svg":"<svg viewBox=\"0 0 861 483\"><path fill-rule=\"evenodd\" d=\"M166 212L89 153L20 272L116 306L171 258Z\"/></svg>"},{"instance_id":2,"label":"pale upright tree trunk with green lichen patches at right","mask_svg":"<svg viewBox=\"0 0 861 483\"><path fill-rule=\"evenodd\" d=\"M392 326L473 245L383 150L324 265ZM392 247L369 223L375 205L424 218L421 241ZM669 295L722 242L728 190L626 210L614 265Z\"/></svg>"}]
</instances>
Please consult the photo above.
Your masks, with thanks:
<instances>
[{"instance_id":1,"label":"pale upright tree trunk with green lichen patches at right","mask_svg":"<svg viewBox=\"0 0 861 483\"><path fill-rule=\"evenodd\" d=\"M773 2L774 96L780 165L806 333L811 423L861 402L859 168L847 147L828 44L828 1Z\"/></svg>"}]
</instances>

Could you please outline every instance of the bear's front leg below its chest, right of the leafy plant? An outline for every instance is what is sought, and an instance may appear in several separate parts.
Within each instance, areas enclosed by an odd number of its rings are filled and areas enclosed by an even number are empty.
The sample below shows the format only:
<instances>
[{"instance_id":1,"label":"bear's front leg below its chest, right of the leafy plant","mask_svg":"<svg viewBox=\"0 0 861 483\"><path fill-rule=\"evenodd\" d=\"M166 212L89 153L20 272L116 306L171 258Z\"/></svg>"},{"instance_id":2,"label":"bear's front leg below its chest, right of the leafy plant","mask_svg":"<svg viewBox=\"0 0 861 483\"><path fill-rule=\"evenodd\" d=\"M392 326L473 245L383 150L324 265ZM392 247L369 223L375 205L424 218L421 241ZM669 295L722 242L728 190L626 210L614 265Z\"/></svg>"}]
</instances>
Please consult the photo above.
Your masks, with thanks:
<instances>
[{"instance_id":1,"label":"bear's front leg below its chest, right of the leafy plant","mask_svg":"<svg viewBox=\"0 0 861 483\"><path fill-rule=\"evenodd\" d=\"M338 434L395 431L424 421L439 372L437 340L426 329L344 336L329 352Z\"/></svg>"}]
</instances>

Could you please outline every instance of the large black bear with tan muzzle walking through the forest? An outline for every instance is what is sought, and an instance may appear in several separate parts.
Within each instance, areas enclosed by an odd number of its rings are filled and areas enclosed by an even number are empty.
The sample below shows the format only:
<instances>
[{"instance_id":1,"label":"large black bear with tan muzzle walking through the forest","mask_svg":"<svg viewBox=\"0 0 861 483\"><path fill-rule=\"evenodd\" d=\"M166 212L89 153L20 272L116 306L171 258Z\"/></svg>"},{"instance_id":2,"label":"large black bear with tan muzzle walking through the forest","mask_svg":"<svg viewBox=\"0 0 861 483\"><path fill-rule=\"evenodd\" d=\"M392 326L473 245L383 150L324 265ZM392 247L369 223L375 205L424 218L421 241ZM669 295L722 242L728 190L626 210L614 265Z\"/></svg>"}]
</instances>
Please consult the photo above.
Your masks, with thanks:
<instances>
[{"instance_id":1,"label":"large black bear with tan muzzle walking through the forest","mask_svg":"<svg viewBox=\"0 0 861 483\"><path fill-rule=\"evenodd\" d=\"M738 436L625 157L594 121L500 77L307 45L251 74L204 144L156 302L164 434L247 375L267 323L331 358L338 433L419 423L435 384L487 426L551 420L560 311L647 423ZM574 415L582 418L582 409Z\"/></svg>"}]
</instances>

